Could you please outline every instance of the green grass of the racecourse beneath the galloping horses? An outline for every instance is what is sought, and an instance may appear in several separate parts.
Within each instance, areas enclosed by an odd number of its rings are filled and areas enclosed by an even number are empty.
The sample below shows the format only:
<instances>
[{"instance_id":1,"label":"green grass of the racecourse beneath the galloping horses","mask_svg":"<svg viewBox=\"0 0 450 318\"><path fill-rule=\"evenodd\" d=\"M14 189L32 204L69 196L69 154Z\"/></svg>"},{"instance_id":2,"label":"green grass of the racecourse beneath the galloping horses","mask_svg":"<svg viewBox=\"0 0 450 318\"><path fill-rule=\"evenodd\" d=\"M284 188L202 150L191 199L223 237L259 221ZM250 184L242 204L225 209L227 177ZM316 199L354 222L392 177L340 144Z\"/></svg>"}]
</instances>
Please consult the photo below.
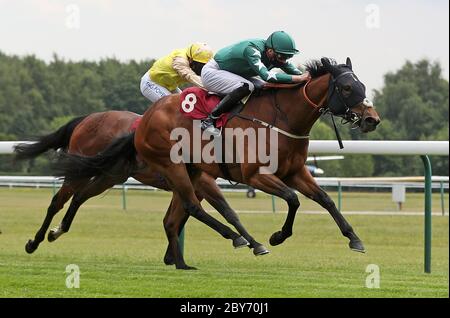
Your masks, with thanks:
<instances>
[{"instance_id":1,"label":"green grass of the racecourse beneath the galloping horses","mask_svg":"<svg viewBox=\"0 0 450 318\"><path fill-rule=\"evenodd\" d=\"M260 194L253 200L242 194L227 197L237 210L271 210L270 197ZM0 188L0 198L0 297L449 296L448 217L433 217L431 274L423 273L422 216L347 215L367 249L358 254L348 249L329 215L302 213L294 235L276 247L267 240L280 229L284 213L240 214L249 232L271 251L261 257L246 248L234 250L230 241L189 220L185 258L199 270L179 271L162 262L169 193L130 191L126 212L119 191L94 198L81 208L70 233L54 243L44 241L32 255L24 245L44 218L51 190ZM346 194L343 206L389 211L390 200L390 194ZM322 211L309 200L301 202L302 210ZM405 210L423 211L420 194L408 195L406 204ZM439 198L433 204L440 211ZM285 210L280 200L276 205ZM68 264L80 267L79 289L65 286ZM379 289L365 287L369 264L380 268Z\"/></svg>"}]
</instances>

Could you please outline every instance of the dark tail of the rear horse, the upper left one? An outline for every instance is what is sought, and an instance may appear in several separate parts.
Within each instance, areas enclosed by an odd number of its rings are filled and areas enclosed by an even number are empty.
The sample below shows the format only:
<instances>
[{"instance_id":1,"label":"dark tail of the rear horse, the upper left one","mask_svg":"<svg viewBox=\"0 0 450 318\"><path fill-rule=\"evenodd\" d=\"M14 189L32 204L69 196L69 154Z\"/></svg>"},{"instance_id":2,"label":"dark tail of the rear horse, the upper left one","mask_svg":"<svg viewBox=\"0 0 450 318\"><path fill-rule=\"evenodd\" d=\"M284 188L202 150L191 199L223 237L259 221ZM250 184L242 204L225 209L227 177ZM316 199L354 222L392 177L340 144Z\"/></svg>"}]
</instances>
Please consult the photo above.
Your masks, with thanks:
<instances>
[{"instance_id":1,"label":"dark tail of the rear horse, the upper left one","mask_svg":"<svg viewBox=\"0 0 450 318\"><path fill-rule=\"evenodd\" d=\"M40 137L36 142L21 143L14 146L14 159L33 159L50 149L58 150L59 148L67 148L75 127L86 117L74 118L55 132Z\"/></svg>"}]
</instances>

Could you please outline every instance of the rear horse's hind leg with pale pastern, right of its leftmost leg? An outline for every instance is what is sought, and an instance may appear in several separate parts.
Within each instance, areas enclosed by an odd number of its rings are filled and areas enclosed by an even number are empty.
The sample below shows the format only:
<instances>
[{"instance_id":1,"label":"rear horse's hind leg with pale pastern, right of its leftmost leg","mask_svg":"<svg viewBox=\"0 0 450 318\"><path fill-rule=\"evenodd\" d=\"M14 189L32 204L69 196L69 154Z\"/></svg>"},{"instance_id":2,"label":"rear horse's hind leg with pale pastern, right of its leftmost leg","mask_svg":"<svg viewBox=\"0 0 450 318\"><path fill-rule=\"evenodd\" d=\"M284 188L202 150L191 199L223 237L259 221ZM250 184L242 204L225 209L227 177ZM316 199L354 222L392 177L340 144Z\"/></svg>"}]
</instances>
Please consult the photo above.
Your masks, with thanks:
<instances>
[{"instance_id":1,"label":"rear horse's hind leg with pale pastern, right of its leftmost leg","mask_svg":"<svg viewBox=\"0 0 450 318\"><path fill-rule=\"evenodd\" d=\"M91 180L82 190L74 193L72 202L64 215L61 224L48 233L48 241L53 242L62 234L69 232L72 221L80 206L92 197L95 197L114 185L122 183L126 177L115 180L107 176L100 176Z\"/></svg>"}]
</instances>

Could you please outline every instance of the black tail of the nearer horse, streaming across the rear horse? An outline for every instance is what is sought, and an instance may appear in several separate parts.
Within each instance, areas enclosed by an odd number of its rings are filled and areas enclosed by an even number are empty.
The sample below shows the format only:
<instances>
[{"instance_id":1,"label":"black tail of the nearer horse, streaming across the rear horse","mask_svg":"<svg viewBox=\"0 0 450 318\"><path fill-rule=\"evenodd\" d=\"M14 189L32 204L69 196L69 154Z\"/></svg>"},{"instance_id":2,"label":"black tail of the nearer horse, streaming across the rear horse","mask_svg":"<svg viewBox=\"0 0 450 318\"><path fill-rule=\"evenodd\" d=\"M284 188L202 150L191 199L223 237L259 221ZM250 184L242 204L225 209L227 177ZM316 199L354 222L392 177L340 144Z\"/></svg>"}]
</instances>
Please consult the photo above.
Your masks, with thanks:
<instances>
[{"instance_id":1,"label":"black tail of the nearer horse, streaming across the rear horse","mask_svg":"<svg viewBox=\"0 0 450 318\"><path fill-rule=\"evenodd\" d=\"M53 174L66 181L90 179L100 175L130 176L137 167L134 132L117 138L93 157L61 152L52 163Z\"/></svg>"}]
</instances>

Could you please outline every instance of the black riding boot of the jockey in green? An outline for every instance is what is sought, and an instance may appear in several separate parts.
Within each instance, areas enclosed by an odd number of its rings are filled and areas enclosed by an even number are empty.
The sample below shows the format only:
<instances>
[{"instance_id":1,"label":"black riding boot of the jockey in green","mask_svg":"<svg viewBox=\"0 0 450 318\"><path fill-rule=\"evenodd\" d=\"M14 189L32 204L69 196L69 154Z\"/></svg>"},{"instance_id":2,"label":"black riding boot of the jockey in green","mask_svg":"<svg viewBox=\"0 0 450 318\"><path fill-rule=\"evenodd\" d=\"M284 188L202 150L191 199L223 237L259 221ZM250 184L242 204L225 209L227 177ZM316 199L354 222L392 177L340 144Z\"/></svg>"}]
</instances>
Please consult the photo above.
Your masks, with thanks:
<instances>
[{"instance_id":1,"label":"black riding boot of the jockey in green","mask_svg":"<svg viewBox=\"0 0 450 318\"><path fill-rule=\"evenodd\" d=\"M230 94L225 96L219 104L212 110L208 118L202 120L201 128L206 130L208 133L214 136L220 136L220 130L214 127L214 121L220 117L223 113L229 112L233 107L245 96L250 94L250 88L247 83L239 88L236 88Z\"/></svg>"}]
</instances>

